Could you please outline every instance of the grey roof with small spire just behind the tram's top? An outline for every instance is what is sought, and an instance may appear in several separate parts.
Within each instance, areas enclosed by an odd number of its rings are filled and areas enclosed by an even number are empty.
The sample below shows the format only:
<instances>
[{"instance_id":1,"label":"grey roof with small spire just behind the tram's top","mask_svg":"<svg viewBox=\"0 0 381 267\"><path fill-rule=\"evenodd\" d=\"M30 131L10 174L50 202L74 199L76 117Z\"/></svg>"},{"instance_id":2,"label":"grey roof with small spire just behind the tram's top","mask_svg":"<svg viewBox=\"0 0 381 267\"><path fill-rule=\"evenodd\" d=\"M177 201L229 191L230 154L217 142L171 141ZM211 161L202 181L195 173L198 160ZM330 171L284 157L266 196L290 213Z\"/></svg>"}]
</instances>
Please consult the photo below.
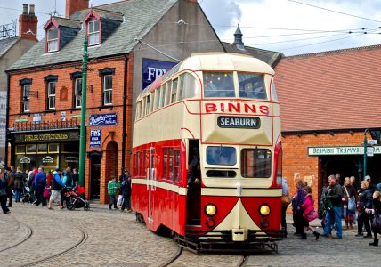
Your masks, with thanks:
<instances>
[{"instance_id":1,"label":"grey roof with small spire just behind the tram's top","mask_svg":"<svg viewBox=\"0 0 381 267\"><path fill-rule=\"evenodd\" d=\"M243 53L251 55L261 61L266 62L272 68L274 68L280 59L283 57L283 53L270 50L263 50L251 46L244 46L244 50L239 49L236 44L221 42L226 52L228 53Z\"/></svg>"}]
</instances>

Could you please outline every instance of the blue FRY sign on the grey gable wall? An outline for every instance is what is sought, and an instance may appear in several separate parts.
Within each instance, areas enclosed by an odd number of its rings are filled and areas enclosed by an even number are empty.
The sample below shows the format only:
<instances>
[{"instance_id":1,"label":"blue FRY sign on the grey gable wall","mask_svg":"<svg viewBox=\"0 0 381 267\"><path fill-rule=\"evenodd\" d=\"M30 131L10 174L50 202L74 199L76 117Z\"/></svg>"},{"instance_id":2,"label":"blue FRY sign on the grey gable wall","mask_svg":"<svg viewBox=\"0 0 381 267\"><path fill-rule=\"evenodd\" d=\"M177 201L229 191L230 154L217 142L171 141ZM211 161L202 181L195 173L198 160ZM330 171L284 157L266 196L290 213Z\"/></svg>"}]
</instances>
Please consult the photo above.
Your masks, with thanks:
<instances>
[{"instance_id":1,"label":"blue FRY sign on the grey gable wall","mask_svg":"<svg viewBox=\"0 0 381 267\"><path fill-rule=\"evenodd\" d=\"M174 65L176 63L169 61L142 59L142 90Z\"/></svg>"}]
</instances>

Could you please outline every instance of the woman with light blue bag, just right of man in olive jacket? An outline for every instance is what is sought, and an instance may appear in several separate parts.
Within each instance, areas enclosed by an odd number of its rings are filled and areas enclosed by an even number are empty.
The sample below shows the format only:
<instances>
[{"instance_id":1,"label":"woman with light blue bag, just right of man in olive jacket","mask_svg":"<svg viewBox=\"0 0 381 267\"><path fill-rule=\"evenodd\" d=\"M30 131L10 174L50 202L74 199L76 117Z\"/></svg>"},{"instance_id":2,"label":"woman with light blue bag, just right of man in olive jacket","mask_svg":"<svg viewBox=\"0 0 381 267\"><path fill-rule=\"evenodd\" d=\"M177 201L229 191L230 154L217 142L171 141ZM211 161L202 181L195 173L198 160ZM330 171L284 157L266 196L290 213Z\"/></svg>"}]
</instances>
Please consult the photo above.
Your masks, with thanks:
<instances>
[{"instance_id":1,"label":"woman with light blue bag, just right of man in olive jacket","mask_svg":"<svg viewBox=\"0 0 381 267\"><path fill-rule=\"evenodd\" d=\"M349 177L346 177L344 180L343 192L345 228L353 229L353 215L356 211L356 190L351 184Z\"/></svg>"}]
</instances>

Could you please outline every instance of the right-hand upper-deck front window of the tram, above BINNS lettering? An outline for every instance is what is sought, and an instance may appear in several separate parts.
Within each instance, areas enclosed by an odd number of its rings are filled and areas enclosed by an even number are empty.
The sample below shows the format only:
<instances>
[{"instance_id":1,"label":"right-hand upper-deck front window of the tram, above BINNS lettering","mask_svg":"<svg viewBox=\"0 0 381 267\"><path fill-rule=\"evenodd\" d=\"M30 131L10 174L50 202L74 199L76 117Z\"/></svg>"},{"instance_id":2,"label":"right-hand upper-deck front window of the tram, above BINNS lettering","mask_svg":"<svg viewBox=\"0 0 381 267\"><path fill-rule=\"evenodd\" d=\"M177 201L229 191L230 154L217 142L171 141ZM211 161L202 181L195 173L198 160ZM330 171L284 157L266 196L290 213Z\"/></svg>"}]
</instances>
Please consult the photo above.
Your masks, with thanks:
<instances>
[{"instance_id":1,"label":"right-hand upper-deck front window of the tram, above BINNS lettering","mask_svg":"<svg viewBox=\"0 0 381 267\"><path fill-rule=\"evenodd\" d=\"M252 99L267 99L266 87L264 86L263 74L238 73L239 97Z\"/></svg>"}]
</instances>

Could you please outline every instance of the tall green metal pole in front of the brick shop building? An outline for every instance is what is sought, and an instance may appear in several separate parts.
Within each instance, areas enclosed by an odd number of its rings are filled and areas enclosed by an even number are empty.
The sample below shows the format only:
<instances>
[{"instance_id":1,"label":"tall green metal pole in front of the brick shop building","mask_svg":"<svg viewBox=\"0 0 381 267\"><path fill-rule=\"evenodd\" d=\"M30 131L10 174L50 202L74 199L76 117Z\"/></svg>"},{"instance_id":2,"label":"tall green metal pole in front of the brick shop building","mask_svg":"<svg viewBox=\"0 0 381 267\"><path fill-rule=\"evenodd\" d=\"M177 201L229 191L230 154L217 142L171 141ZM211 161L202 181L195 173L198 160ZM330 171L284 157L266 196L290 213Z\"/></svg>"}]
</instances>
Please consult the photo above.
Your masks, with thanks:
<instances>
[{"instance_id":1,"label":"tall green metal pole in front of the brick shop building","mask_svg":"<svg viewBox=\"0 0 381 267\"><path fill-rule=\"evenodd\" d=\"M85 186L85 154L86 154L86 82L87 82L87 38L84 41L82 64L82 101L81 101L81 130L79 133L79 184Z\"/></svg>"}]
</instances>

